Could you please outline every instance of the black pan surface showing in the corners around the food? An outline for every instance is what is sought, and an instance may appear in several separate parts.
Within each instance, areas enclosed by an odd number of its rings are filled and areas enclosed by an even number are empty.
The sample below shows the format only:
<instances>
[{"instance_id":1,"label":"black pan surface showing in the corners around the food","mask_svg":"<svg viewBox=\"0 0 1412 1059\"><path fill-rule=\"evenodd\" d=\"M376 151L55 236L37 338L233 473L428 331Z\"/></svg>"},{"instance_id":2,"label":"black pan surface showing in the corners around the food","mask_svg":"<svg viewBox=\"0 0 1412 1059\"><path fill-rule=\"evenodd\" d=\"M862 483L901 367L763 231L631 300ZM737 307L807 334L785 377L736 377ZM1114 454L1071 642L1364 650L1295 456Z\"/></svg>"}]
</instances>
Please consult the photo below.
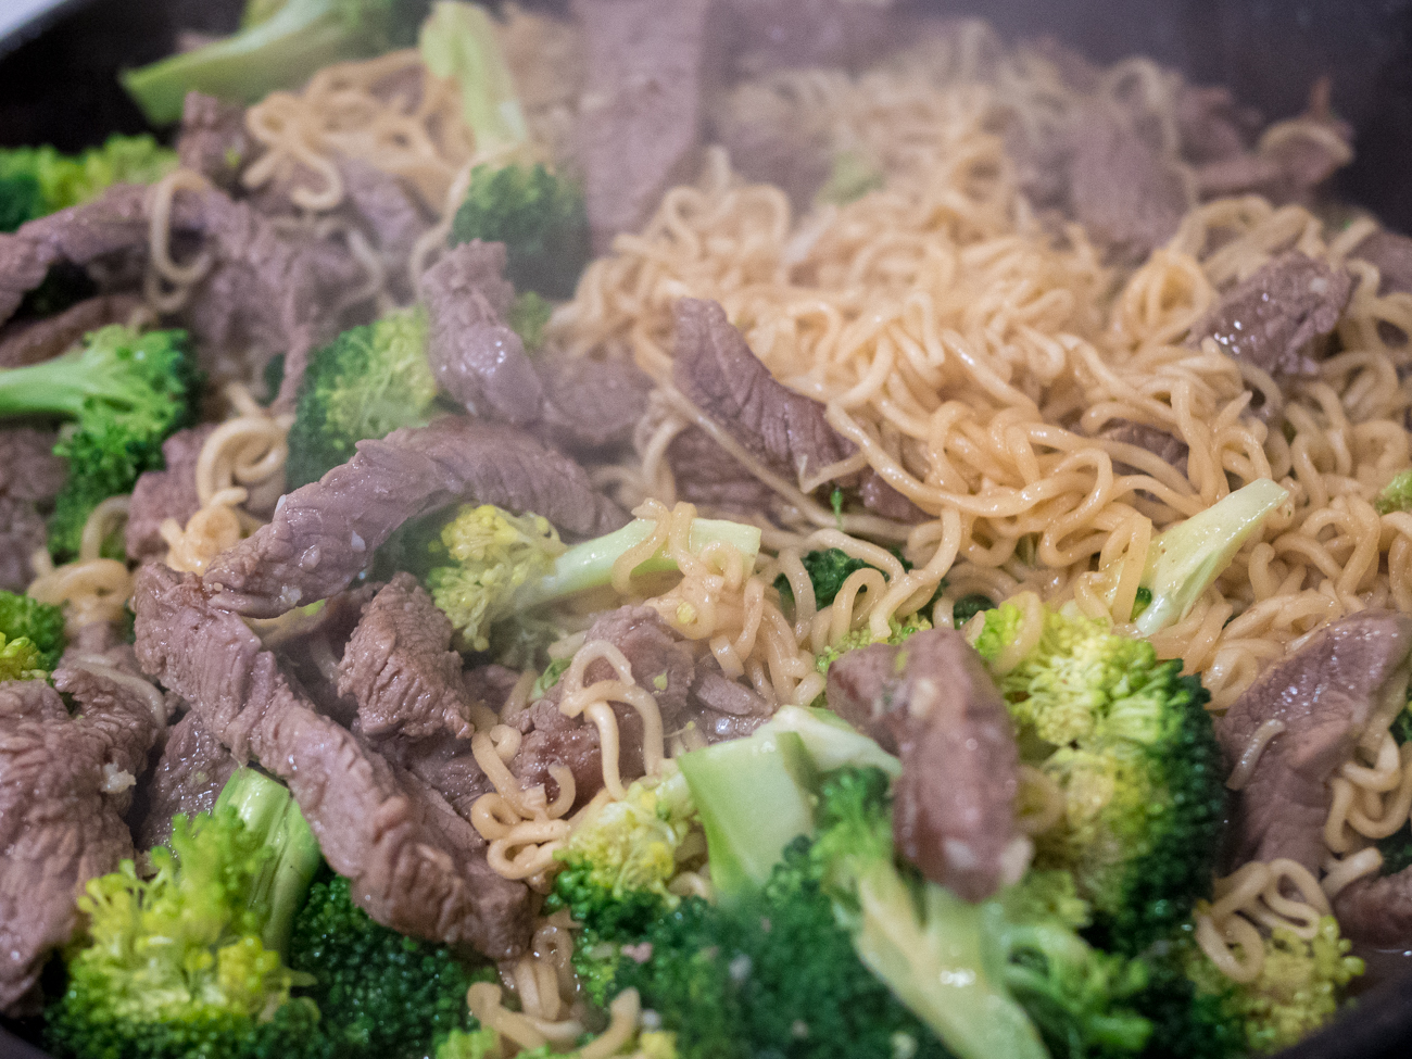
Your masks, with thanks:
<instances>
[{"instance_id":1,"label":"black pan surface showing in the corners around the food","mask_svg":"<svg viewBox=\"0 0 1412 1059\"><path fill-rule=\"evenodd\" d=\"M914 1L943 16L984 16L1007 37L1048 34L1100 61L1145 52L1193 80L1228 85L1269 119L1298 113L1309 83L1329 75L1334 107L1357 130L1357 158L1337 178L1339 195L1412 232L1412 0ZM232 30L241 7L243 0L68 0L0 41L0 144L72 151L113 131L143 130L114 73L172 51L182 30ZM0 1027L0 1059L44 1059L8 1029ZM1412 973L1404 970L1382 976L1333 1027L1282 1059L1409 1055Z\"/></svg>"}]
</instances>

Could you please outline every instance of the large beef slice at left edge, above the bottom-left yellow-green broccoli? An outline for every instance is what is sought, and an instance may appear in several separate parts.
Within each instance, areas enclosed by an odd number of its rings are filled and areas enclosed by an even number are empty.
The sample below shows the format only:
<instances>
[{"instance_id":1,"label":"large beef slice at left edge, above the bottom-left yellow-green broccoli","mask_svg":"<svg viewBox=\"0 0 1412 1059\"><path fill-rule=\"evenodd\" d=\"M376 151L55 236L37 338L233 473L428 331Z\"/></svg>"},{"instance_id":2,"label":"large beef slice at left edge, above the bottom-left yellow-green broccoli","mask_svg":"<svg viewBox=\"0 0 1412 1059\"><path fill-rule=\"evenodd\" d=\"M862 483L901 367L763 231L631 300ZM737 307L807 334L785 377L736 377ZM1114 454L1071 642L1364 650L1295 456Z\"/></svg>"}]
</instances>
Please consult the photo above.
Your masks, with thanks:
<instances>
[{"instance_id":1,"label":"large beef slice at left edge, above the bottom-left yellow-green broccoli","mask_svg":"<svg viewBox=\"0 0 1412 1059\"><path fill-rule=\"evenodd\" d=\"M158 727L144 696L79 669L61 668L54 688L0 683L0 1012L34 1012L40 970L72 936L83 884L133 856L120 774L143 771Z\"/></svg>"}]
</instances>

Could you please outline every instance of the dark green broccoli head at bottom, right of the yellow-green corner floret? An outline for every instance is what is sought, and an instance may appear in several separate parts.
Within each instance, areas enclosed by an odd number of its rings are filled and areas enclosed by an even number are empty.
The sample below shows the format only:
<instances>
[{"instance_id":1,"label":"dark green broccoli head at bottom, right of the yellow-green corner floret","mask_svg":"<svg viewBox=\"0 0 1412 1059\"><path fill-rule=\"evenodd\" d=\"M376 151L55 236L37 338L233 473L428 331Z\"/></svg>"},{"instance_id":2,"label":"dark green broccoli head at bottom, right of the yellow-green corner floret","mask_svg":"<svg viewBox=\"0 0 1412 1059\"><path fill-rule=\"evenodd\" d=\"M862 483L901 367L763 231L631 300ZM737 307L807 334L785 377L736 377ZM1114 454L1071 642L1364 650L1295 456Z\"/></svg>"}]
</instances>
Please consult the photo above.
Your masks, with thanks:
<instances>
[{"instance_id":1,"label":"dark green broccoli head at bottom, right of the yellow-green corner floret","mask_svg":"<svg viewBox=\"0 0 1412 1059\"><path fill-rule=\"evenodd\" d=\"M313 984L323 1034L340 1059L421 1059L457 1029L474 1029L466 1010L472 981L445 946L404 938L353 904L349 881L329 877L309 888L294 921L289 966Z\"/></svg>"}]
</instances>

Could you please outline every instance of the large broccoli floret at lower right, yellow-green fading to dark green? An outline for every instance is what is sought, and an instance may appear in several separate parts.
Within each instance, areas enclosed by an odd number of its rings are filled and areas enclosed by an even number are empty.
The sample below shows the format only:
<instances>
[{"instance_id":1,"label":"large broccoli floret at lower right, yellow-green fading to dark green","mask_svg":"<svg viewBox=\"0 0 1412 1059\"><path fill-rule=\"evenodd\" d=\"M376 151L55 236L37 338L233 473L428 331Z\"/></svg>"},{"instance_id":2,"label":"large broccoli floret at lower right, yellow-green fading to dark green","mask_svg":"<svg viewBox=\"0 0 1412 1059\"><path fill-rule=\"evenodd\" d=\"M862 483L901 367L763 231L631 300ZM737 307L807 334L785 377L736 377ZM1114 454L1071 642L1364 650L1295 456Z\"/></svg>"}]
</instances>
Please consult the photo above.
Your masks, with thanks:
<instances>
[{"instance_id":1,"label":"large broccoli floret at lower right, yellow-green fading to dark green","mask_svg":"<svg viewBox=\"0 0 1412 1059\"><path fill-rule=\"evenodd\" d=\"M1010 603L987 611L976 648L993 661L1019 621ZM1125 953L1168 936L1207 895L1226 815L1209 696L1180 669L1145 640L1046 611L1039 642L997 681L1021 757L1066 799L1036 863L1073 871L1091 935Z\"/></svg>"}]
</instances>

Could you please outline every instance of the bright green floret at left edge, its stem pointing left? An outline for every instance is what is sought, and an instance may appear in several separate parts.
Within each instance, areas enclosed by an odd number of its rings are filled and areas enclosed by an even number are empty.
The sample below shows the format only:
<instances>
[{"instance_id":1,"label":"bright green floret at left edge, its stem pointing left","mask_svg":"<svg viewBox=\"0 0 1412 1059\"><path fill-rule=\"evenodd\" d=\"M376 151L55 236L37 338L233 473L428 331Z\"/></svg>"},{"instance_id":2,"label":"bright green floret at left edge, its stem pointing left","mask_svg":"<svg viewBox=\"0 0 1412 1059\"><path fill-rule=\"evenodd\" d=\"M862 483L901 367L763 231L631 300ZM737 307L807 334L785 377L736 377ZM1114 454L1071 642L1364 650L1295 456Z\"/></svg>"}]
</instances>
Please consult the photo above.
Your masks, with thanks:
<instances>
[{"instance_id":1,"label":"bright green floret at left edge, its stem pointing left","mask_svg":"<svg viewBox=\"0 0 1412 1059\"><path fill-rule=\"evenodd\" d=\"M55 559L78 554L83 522L100 501L130 493L138 474L164 466L162 442L195 421L199 390L185 332L141 335L116 323L89 335L82 349L0 371L0 418L75 421L54 449L69 462L49 520Z\"/></svg>"}]
</instances>

